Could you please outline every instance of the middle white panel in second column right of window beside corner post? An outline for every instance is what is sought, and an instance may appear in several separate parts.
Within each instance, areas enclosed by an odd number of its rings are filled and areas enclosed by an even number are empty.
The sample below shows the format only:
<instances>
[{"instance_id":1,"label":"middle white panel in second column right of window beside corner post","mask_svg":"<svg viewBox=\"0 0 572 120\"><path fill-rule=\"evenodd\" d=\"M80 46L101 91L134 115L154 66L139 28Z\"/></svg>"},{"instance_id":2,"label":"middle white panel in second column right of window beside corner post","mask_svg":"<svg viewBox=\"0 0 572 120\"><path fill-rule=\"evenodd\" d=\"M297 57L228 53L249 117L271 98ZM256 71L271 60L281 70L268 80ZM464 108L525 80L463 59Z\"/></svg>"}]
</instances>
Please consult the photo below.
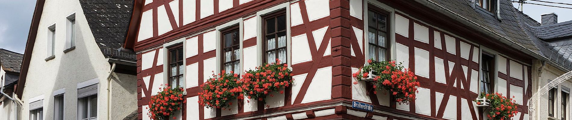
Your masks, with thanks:
<instances>
[{"instance_id":1,"label":"middle white panel in second column right of window beside corner post","mask_svg":"<svg viewBox=\"0 0 572 120\"><path fill-rule=\"evenodd\" d=\"M415 48L415 75L429 78L429 51Z\"/></svg>"}]
</instances>

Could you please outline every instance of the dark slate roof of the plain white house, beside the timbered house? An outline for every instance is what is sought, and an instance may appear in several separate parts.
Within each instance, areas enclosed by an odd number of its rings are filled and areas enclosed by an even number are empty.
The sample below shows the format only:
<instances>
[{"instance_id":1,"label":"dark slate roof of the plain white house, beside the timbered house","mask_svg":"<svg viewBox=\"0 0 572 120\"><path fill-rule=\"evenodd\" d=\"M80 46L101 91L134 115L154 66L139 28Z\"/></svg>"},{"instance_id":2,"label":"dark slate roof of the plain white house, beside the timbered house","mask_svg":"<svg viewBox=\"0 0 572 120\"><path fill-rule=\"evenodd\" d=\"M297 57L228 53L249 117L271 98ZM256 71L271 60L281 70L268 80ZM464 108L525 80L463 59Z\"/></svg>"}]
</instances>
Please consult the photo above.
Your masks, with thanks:
<instances>
[{"instance_id":1,"label":"dark slate roof of the plain white house, beside the timbered house","mask_svg":"<svg viewBox=\"0 0 572 120\"><path fill-rule=\"evenodd\" d=\"M133 0L80 0L93 36L106 58L136 61L130 53L118 52L125 41L133 12Z\"/></svg>"}]
</instances>

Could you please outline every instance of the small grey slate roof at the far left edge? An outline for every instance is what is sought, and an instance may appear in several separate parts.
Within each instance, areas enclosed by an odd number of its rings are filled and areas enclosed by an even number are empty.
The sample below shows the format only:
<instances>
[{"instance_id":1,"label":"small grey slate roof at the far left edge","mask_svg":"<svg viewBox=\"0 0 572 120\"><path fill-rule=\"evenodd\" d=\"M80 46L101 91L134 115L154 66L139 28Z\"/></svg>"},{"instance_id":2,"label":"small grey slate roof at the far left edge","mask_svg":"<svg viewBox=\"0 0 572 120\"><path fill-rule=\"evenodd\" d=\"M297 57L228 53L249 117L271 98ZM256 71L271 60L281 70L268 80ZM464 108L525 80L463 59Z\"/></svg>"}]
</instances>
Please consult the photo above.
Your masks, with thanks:
<instances>
[{"instance_id":1,"label":"small grey slate roof at the far left edge","mask_svg":"<svg viewBox=\"0 0 572 120\"><path fill-rule=\"evenodd\" d=\"M20 73L22 59L24 59L23 54L0 48L0 63L4 71Z\"/></svg>"}]
</instances>

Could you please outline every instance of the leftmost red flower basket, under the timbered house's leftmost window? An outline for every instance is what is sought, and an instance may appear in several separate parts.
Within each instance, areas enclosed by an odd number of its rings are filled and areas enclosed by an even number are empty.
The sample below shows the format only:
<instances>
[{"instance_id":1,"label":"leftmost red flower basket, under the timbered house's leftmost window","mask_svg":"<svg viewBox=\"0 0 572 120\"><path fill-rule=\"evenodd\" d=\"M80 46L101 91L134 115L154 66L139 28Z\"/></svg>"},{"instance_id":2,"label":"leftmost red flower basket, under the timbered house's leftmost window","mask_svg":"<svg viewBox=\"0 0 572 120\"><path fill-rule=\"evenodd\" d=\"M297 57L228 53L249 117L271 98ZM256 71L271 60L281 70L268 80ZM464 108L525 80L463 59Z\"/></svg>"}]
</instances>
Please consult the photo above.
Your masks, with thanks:
<instances>
[{"instance_id":1,"label":"leftmost red flower basket, under the timbered house's leftmost window","mask_svg":"<svg viewBox=\"0 0 572 120\"><path fill-rule=\"evenodd\" d=\"M149 109L147 115L151 119L166 120L174 114L174 111L181 110L181 104L186 102L183 97L183 88L171 88L167 84L165 86L167 87L164 89L159 88L160 92L156 96L151 96L151 100L149 100L149 107L146 109ZM173 117L173 119L177 118Z\"/></svg>"}]
</instances>

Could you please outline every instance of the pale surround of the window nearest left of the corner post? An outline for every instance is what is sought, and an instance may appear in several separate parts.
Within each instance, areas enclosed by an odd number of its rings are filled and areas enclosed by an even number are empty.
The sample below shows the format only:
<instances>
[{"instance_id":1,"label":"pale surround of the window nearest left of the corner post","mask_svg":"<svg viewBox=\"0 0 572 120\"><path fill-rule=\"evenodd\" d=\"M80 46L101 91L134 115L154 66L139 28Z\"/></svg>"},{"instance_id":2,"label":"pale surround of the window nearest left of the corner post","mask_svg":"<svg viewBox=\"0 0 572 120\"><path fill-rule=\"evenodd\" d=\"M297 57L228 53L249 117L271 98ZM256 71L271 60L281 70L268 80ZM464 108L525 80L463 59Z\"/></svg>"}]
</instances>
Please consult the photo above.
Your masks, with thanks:
<instances>
[{"instance_id":1,"label":"pale surround of the window nearest left of the corner post","mask_svg":"<svg viewBox=\"0 0 572 120\"><path fill-rule=\"evenodd\" d=\"M276 5L273 7L270 7L268 9L264 9L261 11L256 12L256 47L257 47L257 52L258 52L258 56L260 56L260 58L257 59L257 65L262 65L263 64L263 58L265 58L265 48L263 48L263 44L265 43L263 40L264 38L264 31L263 31L263 16L264 15L268 15L268 14L272 14L275 12L278 12L278 10L281 9L285 9L286 10L286 64L288 64L288 68L290 70L292 69L292 35L291 35L291 11L290 11L290 3L282 3L280 5ZM246 17L249 18L249 17ZM242 28L241 28L242 29ZM242 42L242 41L241 41ZM242 43L240 45L242 47ZM241 63L242 64L242 63ZM243 70L244 71L244 70Z\"/></svg>"}]
</instances>

